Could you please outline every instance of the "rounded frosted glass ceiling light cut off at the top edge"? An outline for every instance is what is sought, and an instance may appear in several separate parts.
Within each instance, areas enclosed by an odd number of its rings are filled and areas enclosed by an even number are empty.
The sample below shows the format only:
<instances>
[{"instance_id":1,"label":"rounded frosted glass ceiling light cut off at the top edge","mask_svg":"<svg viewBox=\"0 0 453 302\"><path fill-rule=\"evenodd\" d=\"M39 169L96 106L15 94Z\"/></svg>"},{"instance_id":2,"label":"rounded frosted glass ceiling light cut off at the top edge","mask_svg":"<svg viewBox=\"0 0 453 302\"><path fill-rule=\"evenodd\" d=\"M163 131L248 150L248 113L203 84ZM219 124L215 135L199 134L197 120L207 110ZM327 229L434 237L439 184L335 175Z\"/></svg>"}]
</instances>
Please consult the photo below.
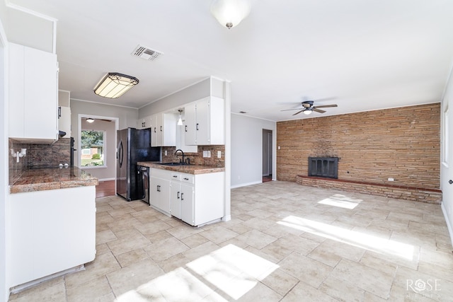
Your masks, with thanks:
<instances>
[{"instance_id":1,"label":"rounded frosted glass ceiling light cut off at the top edge","mask_svg":"<svg viewBox=\"0 0 453 302\"><path fill-rule=\"evenodd\" d=\"M248 0L214 0L211 13L222 26L231 29L248 16L250 8Z\"/></svg>"}]
</instances>

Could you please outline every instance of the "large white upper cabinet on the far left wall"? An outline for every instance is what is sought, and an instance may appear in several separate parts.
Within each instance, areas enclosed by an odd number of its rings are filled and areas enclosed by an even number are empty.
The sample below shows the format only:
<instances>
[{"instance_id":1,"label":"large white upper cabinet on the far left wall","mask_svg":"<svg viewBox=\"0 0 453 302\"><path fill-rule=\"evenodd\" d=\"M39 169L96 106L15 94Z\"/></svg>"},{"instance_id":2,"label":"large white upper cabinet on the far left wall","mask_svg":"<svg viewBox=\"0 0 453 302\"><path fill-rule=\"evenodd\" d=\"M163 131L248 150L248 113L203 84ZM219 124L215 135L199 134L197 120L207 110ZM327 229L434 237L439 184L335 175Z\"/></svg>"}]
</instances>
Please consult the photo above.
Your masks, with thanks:
<instances>
[{"instance_id":1,"label":"large white upper cabinet on the far left wall","mask_svg":"<svg viewBox=\"0 0 453 302\"><path fill-rule=\"evenodd\" d=\"M58 139L57 55L9 43L9 137Z\"/></svg>"}]
</instances>

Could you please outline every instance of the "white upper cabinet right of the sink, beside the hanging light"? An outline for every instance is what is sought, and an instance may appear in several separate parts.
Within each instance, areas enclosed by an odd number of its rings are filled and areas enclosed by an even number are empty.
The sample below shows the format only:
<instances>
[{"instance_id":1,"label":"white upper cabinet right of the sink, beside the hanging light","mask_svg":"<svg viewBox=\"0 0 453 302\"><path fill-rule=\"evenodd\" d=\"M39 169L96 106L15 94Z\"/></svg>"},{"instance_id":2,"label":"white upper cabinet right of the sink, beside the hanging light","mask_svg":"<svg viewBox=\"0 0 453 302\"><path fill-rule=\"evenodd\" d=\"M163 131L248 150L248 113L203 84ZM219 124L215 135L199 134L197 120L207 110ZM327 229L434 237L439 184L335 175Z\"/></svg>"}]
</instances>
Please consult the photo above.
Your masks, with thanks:
<instances>
[{"instance_id":1,"label":"white upper cabinet right of the sink, beside the hanging light","mask_svg":"<svg viewBox=\"0 0 453 302\"><path fill-rule=\"evenodd\" d=\"M185 144L225 144L224 99L213 96L185 105Z\"/></svg>"}]
</instances>

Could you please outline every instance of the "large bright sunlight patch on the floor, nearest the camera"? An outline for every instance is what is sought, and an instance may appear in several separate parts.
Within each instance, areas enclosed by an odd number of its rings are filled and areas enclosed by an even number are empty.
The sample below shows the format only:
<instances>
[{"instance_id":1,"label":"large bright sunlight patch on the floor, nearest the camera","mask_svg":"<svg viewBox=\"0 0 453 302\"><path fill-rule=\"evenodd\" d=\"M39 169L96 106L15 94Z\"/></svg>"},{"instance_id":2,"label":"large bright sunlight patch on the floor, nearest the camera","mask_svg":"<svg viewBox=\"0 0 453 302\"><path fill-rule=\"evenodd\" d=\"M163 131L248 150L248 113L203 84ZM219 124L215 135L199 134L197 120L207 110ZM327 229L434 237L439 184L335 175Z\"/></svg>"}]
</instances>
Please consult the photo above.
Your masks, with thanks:
<instances>
[{"instance_id":1,"label":"large bright sunlight patch on the floor, nearest the camera","mask_svg":"<svg viewBox=\"0 0 453 302\"><path fill-rule=\"evenodd\" d=\"M189 262L187 267L237 300L279 266L230 244ZM115 301L226 301L188 269L178 267L127 291Z\"/></svg>"}]
</instances>

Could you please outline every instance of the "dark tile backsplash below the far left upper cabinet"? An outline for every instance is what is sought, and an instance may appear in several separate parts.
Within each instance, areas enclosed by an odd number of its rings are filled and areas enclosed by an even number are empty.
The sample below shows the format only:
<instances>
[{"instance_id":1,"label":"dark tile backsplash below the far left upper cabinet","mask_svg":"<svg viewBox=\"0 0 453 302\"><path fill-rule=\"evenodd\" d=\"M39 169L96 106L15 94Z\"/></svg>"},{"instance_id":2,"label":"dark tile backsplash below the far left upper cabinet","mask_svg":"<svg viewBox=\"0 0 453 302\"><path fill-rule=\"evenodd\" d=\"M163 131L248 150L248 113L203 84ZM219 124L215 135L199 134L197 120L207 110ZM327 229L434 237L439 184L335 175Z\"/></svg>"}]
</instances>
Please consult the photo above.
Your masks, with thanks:
<instances>
[{"instance_id":1,"label":"dark tile backsplash below the far left upper cabinet","mask_svg":"<svg viewBox=\"0 0 453 302\"><path fill-rule=\"evenodd\" d=\"M11 149L20 151L23 148L27 149L27 155L19 158L17 163L16 158L11 156ZM15 182L25 169L71 163L71 139L59 139L53 144L23 144L9 139L8 150L10 184Z\"/></svg>"}]
</instances>

